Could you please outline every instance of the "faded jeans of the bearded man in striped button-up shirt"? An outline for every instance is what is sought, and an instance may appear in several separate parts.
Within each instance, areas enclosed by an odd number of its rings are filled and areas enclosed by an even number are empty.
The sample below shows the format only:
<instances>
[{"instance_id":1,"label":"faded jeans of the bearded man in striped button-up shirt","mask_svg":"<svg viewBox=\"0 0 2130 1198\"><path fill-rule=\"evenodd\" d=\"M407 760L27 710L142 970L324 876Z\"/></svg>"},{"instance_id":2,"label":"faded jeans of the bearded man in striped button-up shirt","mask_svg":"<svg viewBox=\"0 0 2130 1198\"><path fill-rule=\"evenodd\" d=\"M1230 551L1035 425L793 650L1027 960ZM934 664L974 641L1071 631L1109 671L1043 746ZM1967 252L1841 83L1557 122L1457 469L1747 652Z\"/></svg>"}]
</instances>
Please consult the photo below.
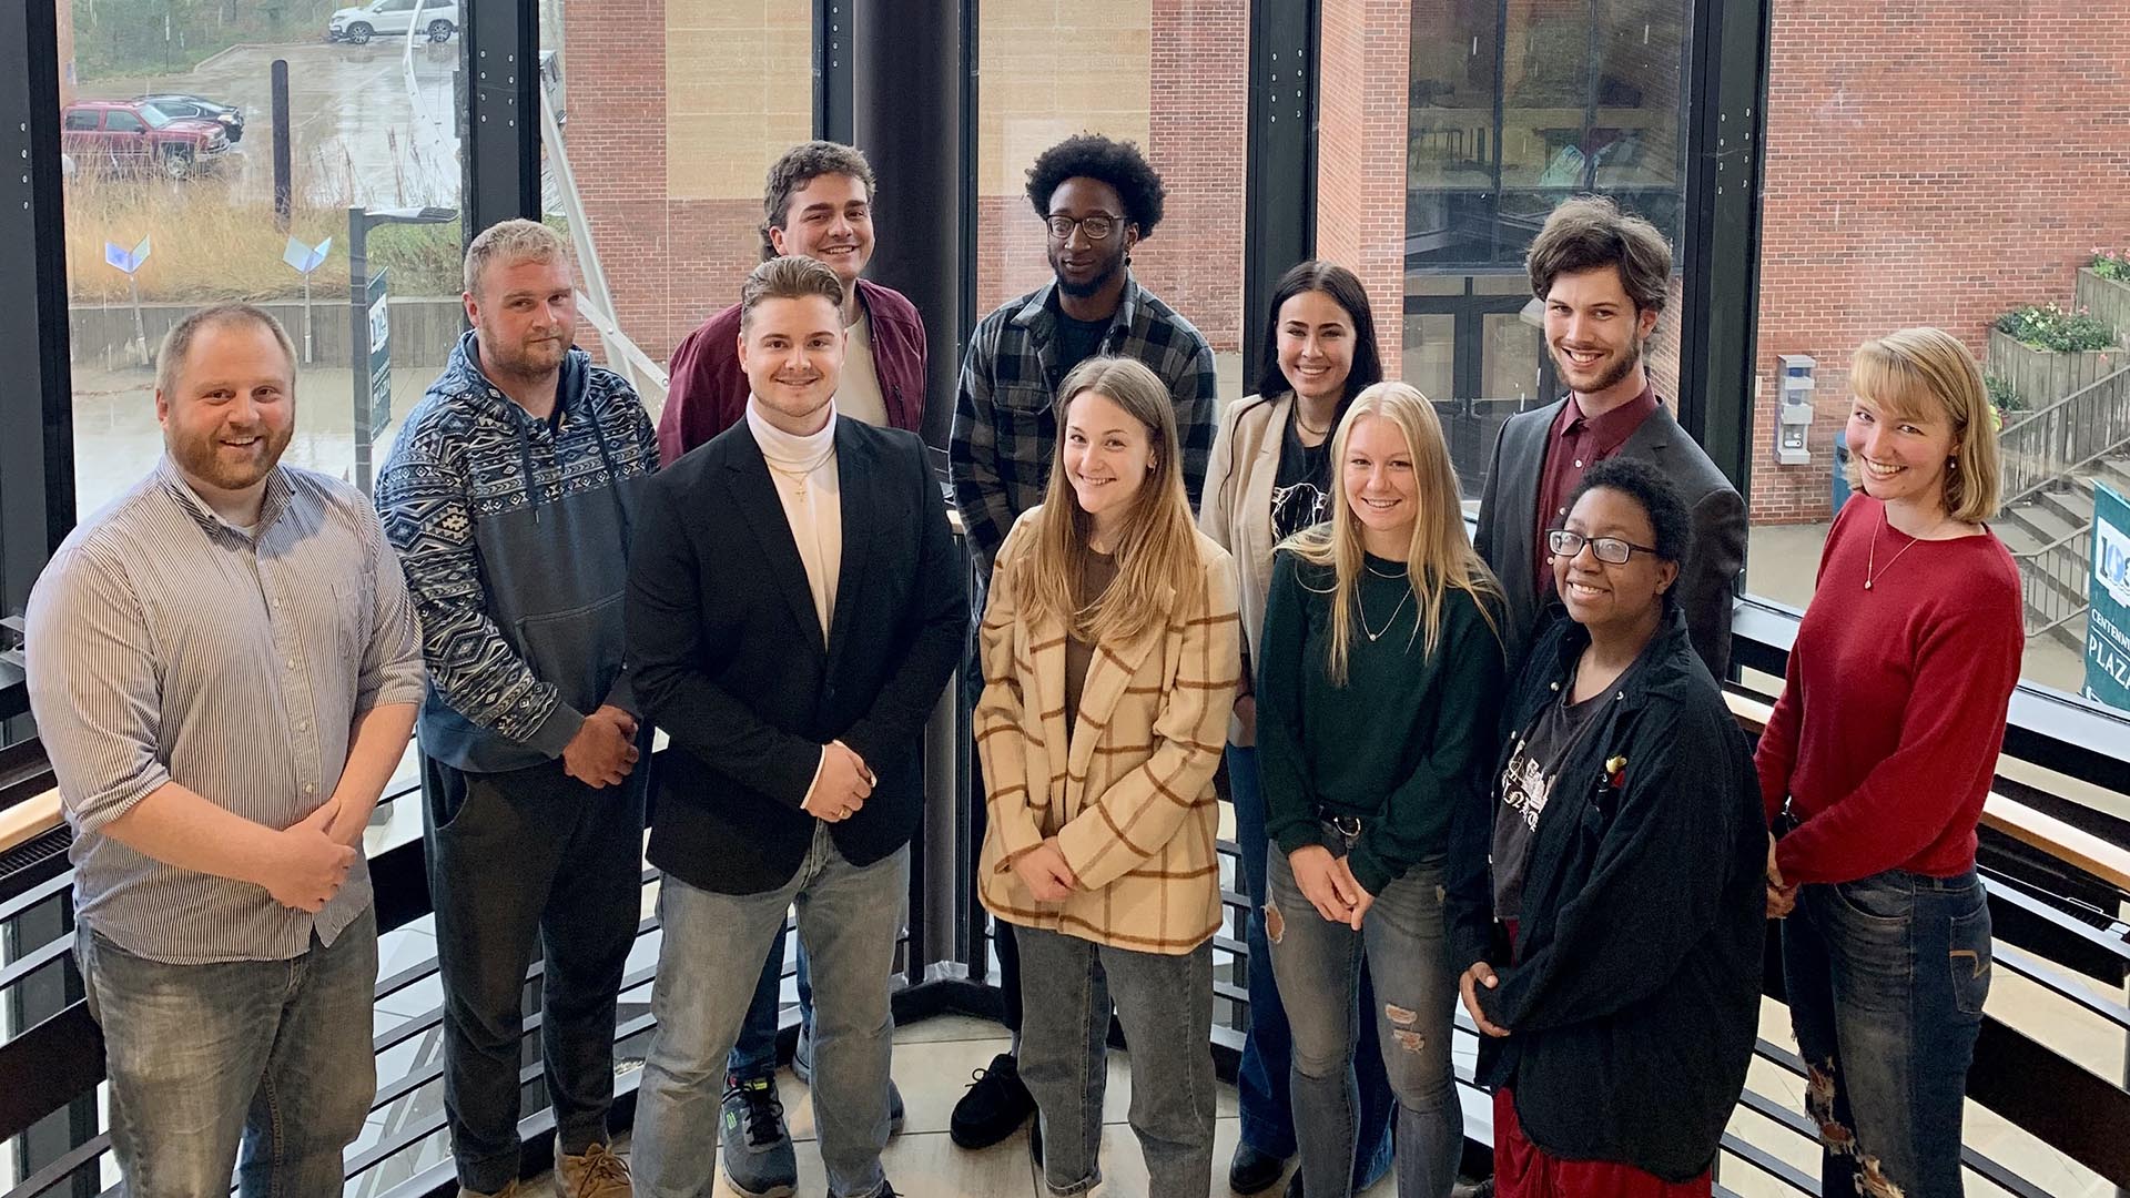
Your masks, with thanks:
<instances>
[{"instance_id":1,"label":"faded jeans of the bearded man in striped button-up shirt","mask_svg":"<svg viewBox=\"0 0 2130 1198\"><path fill-rule=\"evenodd\" d=\"M228 1198L234 1168L243 1198L339 1198L341 1153L377 1094L375 908L288 961L168 966L87 923L75 955L128 1194Z\"/></svg>"}]
</instances>

